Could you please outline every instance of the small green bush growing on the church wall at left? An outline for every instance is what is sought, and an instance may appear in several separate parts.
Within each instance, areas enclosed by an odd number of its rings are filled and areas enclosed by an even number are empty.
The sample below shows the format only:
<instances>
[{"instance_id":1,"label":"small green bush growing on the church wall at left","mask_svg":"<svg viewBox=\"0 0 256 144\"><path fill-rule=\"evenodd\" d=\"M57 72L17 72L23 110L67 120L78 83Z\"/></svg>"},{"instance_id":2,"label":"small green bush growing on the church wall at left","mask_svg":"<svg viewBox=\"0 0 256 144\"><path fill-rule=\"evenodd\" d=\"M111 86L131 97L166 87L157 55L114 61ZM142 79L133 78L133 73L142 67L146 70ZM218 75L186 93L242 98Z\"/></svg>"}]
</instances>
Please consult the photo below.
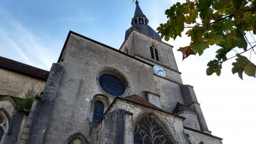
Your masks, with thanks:
<instances>
[{"instance_id":1,"label":"small green bush growing on the church wall at left","mask_svg":"<svg viewBox=\"0 0 256 144\"><path fill-rule=\"evenodd\" d=\"M23 99L18 100L17 102L18 106L22 110L30 109L34 102L35 96L36 96L36 91L34 90L34 87L28 88Z\"/></svg>"}]
</instances>

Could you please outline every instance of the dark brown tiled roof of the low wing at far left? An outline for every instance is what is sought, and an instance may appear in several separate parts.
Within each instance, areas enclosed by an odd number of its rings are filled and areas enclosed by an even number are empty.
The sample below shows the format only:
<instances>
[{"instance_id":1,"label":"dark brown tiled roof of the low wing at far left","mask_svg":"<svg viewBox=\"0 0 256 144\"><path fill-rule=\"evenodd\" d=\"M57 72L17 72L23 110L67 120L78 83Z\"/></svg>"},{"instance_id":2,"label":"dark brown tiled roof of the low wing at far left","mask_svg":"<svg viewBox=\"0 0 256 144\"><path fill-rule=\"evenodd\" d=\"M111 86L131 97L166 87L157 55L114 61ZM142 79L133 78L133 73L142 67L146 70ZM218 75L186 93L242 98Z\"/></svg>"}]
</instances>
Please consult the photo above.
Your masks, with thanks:
<instances>
[{"instance_id":1,"label":"dark brown tiled roof of the low wing at far left","mask_svg":"<svg viewBox=\"0 0 256 144\"><path fill-rule=\"evenodd\" d=\"M47 80L49 71L0 56L0 68Z\"/></svg>"}]
</instances>

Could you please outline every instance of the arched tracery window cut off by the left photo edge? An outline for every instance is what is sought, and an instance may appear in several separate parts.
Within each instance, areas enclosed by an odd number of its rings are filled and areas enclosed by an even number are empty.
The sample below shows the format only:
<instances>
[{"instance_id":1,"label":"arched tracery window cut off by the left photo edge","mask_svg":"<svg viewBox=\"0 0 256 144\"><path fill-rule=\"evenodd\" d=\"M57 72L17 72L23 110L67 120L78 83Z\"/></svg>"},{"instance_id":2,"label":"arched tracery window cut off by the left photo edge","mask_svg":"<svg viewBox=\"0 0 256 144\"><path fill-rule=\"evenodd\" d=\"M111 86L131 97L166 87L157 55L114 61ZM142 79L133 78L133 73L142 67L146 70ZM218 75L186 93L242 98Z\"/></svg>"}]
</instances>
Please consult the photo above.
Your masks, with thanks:
<instances>
[{"instance_id":1,"label":"arched tracery window cut off by the left photo edge","mask_svg":"<svg viewBox=\"0 0 256 144\"><path fill-rule=\"evenodd\" d=\"M0 144L3 142L4 137L8 133L9 121L4 110L0 109Z\"/></svg>"}]
</instances>

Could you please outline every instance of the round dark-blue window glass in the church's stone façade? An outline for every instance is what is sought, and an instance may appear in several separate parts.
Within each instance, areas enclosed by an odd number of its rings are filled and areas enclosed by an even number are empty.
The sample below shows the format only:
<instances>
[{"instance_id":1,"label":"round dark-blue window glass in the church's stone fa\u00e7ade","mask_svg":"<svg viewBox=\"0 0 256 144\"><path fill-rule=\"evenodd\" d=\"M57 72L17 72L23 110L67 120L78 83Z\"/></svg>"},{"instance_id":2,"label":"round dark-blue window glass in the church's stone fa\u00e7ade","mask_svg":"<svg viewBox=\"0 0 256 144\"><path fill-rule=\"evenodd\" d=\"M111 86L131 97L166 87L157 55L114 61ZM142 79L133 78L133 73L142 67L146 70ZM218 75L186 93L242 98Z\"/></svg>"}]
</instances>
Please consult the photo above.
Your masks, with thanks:
<instances>
[{"instance_id":1,"label":"round dark-blue window glass in the church's stone fa\u00e7ade","mask_svg":"<svg viewBox=\"0 0 256 144\"><path fill-rule=\"evenodd\" d=\"M116 76L111 74L103 74L99 78L102 89L112 96L121 96L124 94L124 84Z\"/></svg>"}]
</instances>

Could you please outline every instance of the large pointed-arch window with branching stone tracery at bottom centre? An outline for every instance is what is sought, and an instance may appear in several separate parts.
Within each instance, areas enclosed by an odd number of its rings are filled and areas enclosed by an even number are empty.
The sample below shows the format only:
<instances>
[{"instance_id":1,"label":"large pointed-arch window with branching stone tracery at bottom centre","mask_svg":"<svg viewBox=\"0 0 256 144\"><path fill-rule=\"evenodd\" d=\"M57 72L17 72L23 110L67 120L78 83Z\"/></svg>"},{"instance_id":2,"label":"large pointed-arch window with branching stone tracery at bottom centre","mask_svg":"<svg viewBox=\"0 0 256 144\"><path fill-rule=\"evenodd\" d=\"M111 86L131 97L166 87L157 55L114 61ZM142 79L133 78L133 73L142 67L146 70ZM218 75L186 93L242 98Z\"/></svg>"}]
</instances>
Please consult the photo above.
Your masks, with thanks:
<instances>
[{"instance_id":1,"label":"large pointed-arch window with branching stone tracery at bottom centre","mask_svg":"<svg viewBox=\"0 0 256 144\"><path fill-rule=\"evenodd\" d=\"M172 144L168 134L154 120L154 116L146 115L134 126L134 144Z\"/></svg>"}]
</instances>

